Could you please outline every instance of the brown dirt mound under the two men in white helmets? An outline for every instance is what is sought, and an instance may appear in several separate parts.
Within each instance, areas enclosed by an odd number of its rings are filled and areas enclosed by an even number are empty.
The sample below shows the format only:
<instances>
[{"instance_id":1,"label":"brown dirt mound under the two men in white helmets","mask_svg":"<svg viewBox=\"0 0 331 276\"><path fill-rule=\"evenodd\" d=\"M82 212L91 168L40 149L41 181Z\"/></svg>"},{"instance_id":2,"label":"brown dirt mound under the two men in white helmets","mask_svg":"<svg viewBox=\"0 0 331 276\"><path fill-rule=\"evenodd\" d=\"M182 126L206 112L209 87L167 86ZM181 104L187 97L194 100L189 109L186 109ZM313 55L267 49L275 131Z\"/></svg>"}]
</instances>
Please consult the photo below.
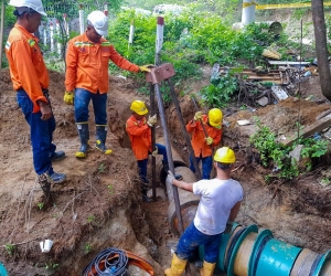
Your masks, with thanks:
<instances>
[{"instance_id":1,"label":"brown dirt mound under the two men in white helmets","mask_svg":"<svg viewBox=\"0 0 331 276\"><path fill-rule=\"evenodd\" d=\"M66 173L67 181L52 188L54 204L46 206L35 181L29 127L17 105L9 71L1 71L1 261L11 275L28 275L26 272L29 275L77 275L99 248L119 247L135 251L154 263L134 232L146 227L136 160L128 144L126 148L119 145L126 139L125 120L130 116L130 100L136 97L132 82L122 77L110 79L111 132L107 145L114 153L106 157L92 150L86 160L77 160L74 152L79 141L73 107L63 103L64 75L51 71L50 78L57 121L54 142L67 155L65 160L54 163L54 169ZM89 123L93 135L92 109ZM90 142L94 144L93 138ZM45 238L54 241L50 254L41 254L39 247L39 242ZM139 240L150 244L146 238ZM154 268L160 269L157 263Z\"/></svg>"}]
</instances>

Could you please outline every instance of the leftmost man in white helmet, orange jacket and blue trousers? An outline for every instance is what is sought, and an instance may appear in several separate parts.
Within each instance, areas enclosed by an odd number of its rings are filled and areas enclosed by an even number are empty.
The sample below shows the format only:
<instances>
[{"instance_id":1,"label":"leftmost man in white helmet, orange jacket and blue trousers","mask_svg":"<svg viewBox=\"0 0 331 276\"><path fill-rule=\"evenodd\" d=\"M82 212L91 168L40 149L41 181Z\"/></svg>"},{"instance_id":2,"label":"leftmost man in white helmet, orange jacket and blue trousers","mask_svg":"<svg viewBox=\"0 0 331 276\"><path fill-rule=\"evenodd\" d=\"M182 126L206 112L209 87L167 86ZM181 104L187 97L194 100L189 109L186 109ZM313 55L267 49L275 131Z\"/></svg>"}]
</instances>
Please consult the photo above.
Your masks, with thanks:
<instances>
[{"instance_id":1,"label":"leftmost man in white helmet, orange jacket and blue trousers","mask_svg":"<svg viewBox=\"0 0 331 276\"><path fill-rule=\"evenodd\" d=\"M30 125L34 170L47 198L51 182L60 184L66 176L54 172L52 167L52 161L65 158L65 152L55 152L56 146L52 142L55 119L47 89L50 78L39 39L33 35L46 13L40 0L11 0L9 4L15 7L13 14L17 15L6 43L10 75L18 104Z\"/></svg>"}]
</instances>

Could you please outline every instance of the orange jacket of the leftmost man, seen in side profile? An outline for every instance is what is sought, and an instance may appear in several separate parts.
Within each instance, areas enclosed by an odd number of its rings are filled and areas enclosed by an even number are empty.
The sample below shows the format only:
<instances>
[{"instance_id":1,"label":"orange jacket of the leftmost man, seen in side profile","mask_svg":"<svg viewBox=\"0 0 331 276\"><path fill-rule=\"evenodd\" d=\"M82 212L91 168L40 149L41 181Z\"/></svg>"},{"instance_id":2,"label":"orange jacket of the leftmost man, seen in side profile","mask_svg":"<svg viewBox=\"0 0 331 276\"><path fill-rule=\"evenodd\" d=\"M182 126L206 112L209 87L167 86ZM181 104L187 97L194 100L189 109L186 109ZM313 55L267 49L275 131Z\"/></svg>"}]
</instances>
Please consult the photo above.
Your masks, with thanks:
<instances>
[{"instance_id":1,"label":"orange jacket of the leftmost man, seen in side profile","mask_svg":"<svg viewBox=\"0 0 331 276\"><path fill-rule=\"evenodd\" d=\"M38 38L17 23L6 43L13 88L25 91L33 103L33 113L40 110L38 100L47 103L42 89L49 88L50 84L49 72L38 42Z\"/></svg>"}]
</instances>

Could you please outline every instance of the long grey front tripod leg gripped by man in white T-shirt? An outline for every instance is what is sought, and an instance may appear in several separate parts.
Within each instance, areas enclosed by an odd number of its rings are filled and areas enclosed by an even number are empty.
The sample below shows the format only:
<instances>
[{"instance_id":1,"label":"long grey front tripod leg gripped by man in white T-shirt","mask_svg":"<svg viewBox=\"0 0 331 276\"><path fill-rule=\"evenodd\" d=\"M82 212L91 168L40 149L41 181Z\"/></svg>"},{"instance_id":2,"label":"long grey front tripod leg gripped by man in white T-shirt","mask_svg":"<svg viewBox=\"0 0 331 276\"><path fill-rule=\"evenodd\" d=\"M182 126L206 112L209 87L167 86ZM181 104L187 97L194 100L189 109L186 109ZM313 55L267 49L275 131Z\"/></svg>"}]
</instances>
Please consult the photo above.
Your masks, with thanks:
<instances>
[{"instance_id":1,"label":"long grey front tripod leg gripped by man in white T-shirt","mask_svg":"<svg viewBox=\"0 0 331 276\"><path fill-rule=\"evenodd\" d=\"M164 113L164 107L163 107L163 99L162 99L161 92L159 89L159 84L154 84L154 92L157 94L157 99L158 99L160 119L161 119L161 124L162 124L164 144L166 144L166 149L167 149L167 155L168 155L169 169L174 174L174 166L173 166L173 159L172 159L172 152L171 152L171 145L169 141L169 134L168 134L168 126L167 126L166 113ZM178 222L179 222L179 230L180 230L180 233L182 234L184 232L184 226L183 226L183 220L182 220L182 214L181 214L181 205L179 202L178 188L175 185L173 185L172 190L173 190L173 200L174 200L174 204L175 204L175 213L177 213Z\"/></svg>"}]
</instances>

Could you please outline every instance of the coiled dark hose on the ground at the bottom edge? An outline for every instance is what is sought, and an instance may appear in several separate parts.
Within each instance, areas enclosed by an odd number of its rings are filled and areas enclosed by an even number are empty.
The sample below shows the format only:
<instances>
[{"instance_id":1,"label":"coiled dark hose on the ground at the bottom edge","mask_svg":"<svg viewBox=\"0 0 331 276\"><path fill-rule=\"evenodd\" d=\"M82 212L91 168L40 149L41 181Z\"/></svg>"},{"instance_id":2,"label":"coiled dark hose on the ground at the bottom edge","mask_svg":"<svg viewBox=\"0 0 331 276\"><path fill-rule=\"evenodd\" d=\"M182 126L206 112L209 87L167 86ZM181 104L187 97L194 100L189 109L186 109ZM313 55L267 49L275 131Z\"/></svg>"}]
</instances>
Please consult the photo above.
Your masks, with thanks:
<instances>
[{"instance_id":1,"label":"coiled dark hose on the ground at the bottom edge","mask_svg":"<svg viewBox=\"0 0 331 276\"><path fill-rule=\"evenodd\" d=\"M126 276L128 275L127 265L126 252L110 247L100 252L84 268L81 276Z\"/></svg>"}]
</instances>

